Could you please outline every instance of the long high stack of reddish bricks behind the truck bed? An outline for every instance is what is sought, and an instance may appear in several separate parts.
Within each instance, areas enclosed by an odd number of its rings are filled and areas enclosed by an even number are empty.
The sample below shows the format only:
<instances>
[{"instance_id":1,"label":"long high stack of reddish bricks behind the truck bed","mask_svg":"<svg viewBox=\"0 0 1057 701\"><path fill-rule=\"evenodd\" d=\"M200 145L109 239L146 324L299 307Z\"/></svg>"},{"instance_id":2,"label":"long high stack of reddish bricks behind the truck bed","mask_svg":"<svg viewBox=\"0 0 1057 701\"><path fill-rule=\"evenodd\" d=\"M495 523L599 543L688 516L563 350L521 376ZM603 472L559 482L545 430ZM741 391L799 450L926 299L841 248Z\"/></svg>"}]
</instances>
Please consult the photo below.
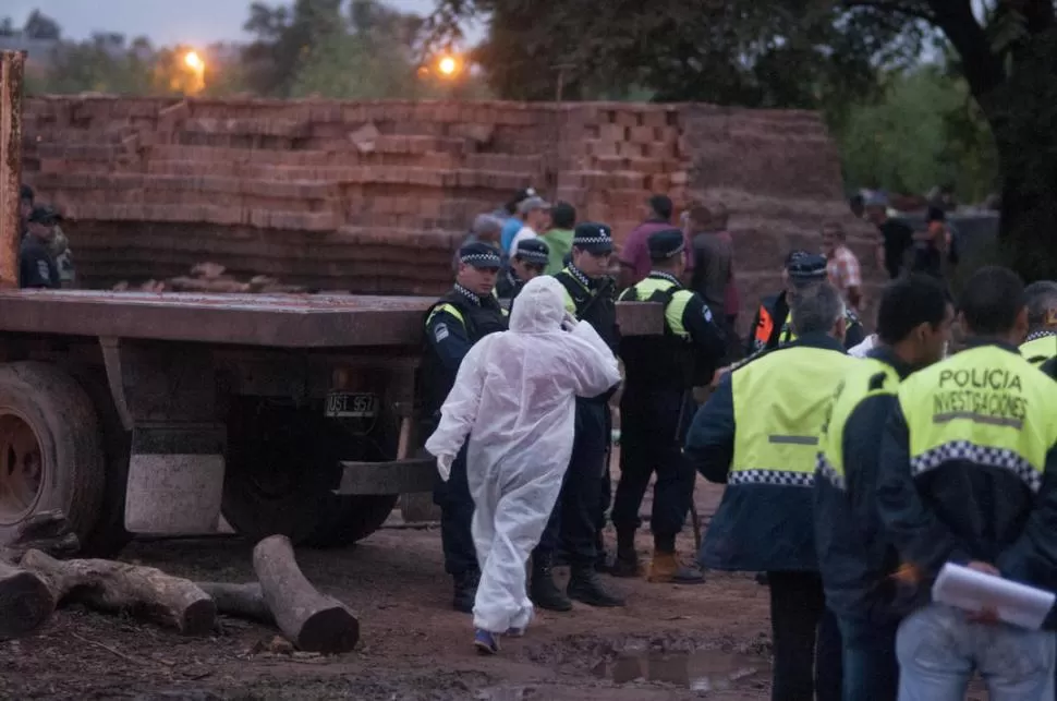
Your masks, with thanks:
<instances>
[{"instance_id":1,"label":"long high stack of reddish bricks behind the truck bed","mask_svg":"<svg viewBox=\"0 0 1057 701\"><path fill-rule=\"evenodd\" d=\"M26 100L23 130L24 178L75 220L90 287L212 261L239 279L435 294L473 217L532 185L618 241L652 193L722 200L755 294L790 239L850 220L834 148L800 112L77 96Z\"/></svg>"}]
</instances>

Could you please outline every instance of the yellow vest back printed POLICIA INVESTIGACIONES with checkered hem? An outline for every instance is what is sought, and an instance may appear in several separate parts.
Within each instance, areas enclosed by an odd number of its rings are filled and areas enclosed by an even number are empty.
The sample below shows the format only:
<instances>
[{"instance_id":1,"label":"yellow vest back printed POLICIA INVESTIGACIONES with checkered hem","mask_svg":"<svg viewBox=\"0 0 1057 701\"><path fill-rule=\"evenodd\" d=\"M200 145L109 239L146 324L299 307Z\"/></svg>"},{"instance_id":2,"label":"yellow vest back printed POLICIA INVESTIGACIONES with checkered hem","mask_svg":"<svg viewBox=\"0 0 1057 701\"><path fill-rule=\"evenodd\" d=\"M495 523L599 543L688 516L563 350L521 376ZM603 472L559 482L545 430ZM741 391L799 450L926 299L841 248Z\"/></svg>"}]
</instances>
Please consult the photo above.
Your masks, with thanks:
<instances>
[{"instance_id":1,"label":"yellow vest back printed POLICIA INVESTIGACIONES with checkered hem","mask_svg":"<svg viewBox=\"0 0 1057 701\"><path fill-rule=\"evenodd\" d=\"M961 351L903 382L899 406L915 476L965 460L1008 470L1038 491L1057 444L1057 401L1053 380L1022 356L995 346Z\"/></svg>"}]
</instances>

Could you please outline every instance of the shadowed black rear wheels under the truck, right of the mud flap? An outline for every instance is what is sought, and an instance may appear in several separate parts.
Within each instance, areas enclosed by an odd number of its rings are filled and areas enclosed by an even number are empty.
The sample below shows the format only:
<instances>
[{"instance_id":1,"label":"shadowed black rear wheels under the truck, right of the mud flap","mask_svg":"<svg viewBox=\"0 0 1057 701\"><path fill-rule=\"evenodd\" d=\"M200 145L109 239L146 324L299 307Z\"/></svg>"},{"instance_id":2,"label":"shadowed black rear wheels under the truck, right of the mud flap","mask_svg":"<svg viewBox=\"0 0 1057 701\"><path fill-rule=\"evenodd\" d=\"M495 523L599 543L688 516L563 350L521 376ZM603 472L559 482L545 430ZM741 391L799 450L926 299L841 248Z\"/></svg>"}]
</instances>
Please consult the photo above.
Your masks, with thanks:
<instances>
[{"instance_id":1,"label":"shadowed black rear wheels under the truck, right of the mud flap","mask_svg":"<svg viewBox=\"0 0 1057 701\"><path fill-rule=\"evenodd\" d=\"M319 411L236 398L228 420L223 516L255 542L281 533L295 544L331 547L366 537L385 522L397 496L338 496L331 490L341 478L340 461L369 446Z\"/></svg>"}]
</instances>

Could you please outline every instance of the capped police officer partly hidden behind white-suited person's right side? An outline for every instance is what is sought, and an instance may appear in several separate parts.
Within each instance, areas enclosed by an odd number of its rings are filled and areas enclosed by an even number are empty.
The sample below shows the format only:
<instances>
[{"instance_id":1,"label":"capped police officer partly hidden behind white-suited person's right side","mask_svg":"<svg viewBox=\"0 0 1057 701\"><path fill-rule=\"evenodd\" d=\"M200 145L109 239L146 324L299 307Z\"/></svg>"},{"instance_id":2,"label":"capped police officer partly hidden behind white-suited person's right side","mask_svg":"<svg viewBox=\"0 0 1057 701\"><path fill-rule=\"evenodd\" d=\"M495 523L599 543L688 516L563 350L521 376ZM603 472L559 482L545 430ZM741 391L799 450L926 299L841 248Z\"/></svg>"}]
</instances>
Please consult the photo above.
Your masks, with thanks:
<instances>
[{"instance_id":1,"label":"capped police officer partly hidden behind white-suited person's right side","mask_svg":"<svg viewBox=\"0 0 1057 701\"><path fill-rule=\"evenodd\" d=\"M555 275L564 288L566 310L594 327L610 349L619 347L615 280L608 276L612 232L607 225L579 225L572 239L572 263ZM612 392L576 399L575 437L556 513L533 551L528 595L540 608L569 611L575 599L591 606L622 606L596 571L602 527L608 508L609 442ZM551 566L560 541L572 573L563 594L554 583ZM567 596L568 594L568 596Z\"/></svg>"}]
</instances>

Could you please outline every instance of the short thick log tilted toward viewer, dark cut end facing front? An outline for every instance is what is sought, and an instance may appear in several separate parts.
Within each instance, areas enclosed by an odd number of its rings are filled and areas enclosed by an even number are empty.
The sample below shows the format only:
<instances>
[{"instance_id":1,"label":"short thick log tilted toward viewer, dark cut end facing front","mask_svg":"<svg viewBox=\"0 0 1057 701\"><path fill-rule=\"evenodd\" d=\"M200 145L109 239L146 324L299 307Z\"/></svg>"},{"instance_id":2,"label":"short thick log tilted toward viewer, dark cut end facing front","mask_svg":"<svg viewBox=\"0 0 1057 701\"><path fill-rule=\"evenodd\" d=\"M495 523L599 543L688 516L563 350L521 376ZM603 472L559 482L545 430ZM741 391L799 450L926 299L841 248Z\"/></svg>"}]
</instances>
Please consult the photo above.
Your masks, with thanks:
<instances>
[{"instance_id":1,"label":"short thick log tilted toward viewer, dark cut end facing front","mask_svg":"<svg viewBox=\"0 0 1057 701\"><path fill-rule=\"evenodd\" d=\"M332 596L305 579L285 535L272 535L253 548L253 569L265 603L282 633L305 652L349 652L360 640L360 621Z\"/></svg>"}]
</instances>

